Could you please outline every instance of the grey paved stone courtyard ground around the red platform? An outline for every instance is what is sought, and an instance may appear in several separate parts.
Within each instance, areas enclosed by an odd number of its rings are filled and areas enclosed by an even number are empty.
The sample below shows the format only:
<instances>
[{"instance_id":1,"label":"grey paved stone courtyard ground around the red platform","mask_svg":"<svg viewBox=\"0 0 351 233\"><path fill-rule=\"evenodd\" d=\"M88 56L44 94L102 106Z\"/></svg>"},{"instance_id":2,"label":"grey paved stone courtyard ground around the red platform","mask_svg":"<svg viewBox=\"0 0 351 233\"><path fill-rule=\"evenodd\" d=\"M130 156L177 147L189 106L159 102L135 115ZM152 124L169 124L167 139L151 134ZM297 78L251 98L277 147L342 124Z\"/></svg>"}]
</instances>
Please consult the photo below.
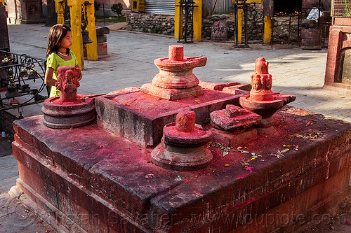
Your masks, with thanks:
<instances>
[{"instance_id":1,"label":"grey paved stone courtyard ground around the red platform","mask_svg":"<svg viewBox=\"0 0 351 233\"><path fill-rule=\"evenodd\" d=\"M45 57L49 27L43 24L19 24L8 26L11 52L25 53L34 57ZM110 57L99 61L86 61L79 93L108 93L125 87L140 87L150 83L158 73L153 61L168 56L168 45L176 44L169 36L154 36L123 31L111 31L107 35ZM185 56L202 55L208 58L206 66L194 69L200 80L219 83L237 81L249 83L257 57L265 57L270 62L273 76L272 90L295 94L296 101L291 106L322 113L326 117L351 122L350 90L324 90L326 50L310 51L299 48L251 45L248 49L234 49L231 43L190 43L184 44ZM29 83L31 87L40 85ZM41 104L22 108L23 116L39 115ZM10 113L19 115L18 110ZM1 151L9 147L0 143ZM2 155L2 153L1 153ZM45 232L49 230L40 219L28 212L7 195L18 177L17 163L11 155L0 157L0 232ZM350 208L343 206L342 218L307 227L303 232L351 232ZM15 210L15 211L13 211ZM331 215L328 215L331 216ZM338 217L338 216L336 216ZM331 219L329 217L329 219ZM4 228L5 227L5 228ZM4 231L5 230L5 231ZM52 230L50 230L52 232Z\"/></svg>"}]
</instances>

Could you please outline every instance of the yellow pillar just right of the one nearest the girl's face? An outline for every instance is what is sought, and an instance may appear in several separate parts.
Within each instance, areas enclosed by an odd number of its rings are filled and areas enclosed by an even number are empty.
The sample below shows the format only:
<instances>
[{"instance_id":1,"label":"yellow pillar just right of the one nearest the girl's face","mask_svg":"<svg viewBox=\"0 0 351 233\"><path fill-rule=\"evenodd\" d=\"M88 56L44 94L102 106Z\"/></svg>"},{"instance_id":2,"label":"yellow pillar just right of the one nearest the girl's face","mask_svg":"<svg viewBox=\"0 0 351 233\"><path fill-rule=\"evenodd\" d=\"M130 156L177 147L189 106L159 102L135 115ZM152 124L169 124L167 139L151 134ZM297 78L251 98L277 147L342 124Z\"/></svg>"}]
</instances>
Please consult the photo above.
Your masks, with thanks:
<instances>
[{"instance_id":1,"label":"yellow pillar just right of the one nearest the girl's face","mask_svg":"<svg viewBox=\"0 0 351 233\"><path fill-rule=\"evenodd\" d=\"M96 29L95 29L95 9L94 2L89 2L90 4L86 5L86 14L88 16L88 25L86 30L89 31L89 38L93 43L86 44L86 55L88 60L96 61L98 59L98 39L96 38Z\"/></svg>"}]
</instances>

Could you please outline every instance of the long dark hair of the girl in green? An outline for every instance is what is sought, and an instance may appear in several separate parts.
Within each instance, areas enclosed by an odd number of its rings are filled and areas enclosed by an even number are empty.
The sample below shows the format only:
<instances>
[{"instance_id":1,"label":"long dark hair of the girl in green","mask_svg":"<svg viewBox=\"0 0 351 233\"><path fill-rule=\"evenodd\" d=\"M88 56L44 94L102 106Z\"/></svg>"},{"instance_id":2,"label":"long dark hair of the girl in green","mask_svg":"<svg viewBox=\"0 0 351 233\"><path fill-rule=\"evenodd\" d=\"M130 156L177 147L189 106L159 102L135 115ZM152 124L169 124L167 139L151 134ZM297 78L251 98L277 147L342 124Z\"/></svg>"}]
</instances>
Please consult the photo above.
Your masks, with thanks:
<instances>
[{"instance_id":1,"label":"long dark hair of the girl in green","mask_svg":"<svg viewBox=\"0 0 351 233\"><path fill-rule=\"evenodd\" d=\"M48 49L46 50L46 57L51 55L52 52L58 52L60 41L67 35L67 31L71 31L71 29L65 24L56 24L51 27L50 31L48 31ZM68 52L69 48L67 48L67 54Z\"/></svg>"}]
</instances>

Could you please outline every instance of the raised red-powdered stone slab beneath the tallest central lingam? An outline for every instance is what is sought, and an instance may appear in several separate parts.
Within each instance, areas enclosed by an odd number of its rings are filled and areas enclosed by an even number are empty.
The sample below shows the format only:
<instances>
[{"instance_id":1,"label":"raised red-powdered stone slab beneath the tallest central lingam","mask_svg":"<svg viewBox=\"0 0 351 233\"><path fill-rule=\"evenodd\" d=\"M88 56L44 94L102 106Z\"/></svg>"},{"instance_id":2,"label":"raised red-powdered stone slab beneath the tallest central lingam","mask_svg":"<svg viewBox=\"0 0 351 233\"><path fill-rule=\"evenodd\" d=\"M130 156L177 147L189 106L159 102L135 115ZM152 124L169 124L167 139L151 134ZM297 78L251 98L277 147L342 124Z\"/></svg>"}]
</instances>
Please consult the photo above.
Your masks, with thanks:
<instances>
[{"instance_id":1,"label":"raised red-powdered stone slab beneath the tallest central lingam","mask_svg":"<svg viewBox=\"0 0 351 233\"><path fill-rule=\"evenodd\" d=\"M164 125L176 120L182 110L196 113L197 124L209 118L212 111L227 104L239 104L240 95L204 90L199 97L169 101L139 90L121 92L95 99L98 125L117 136L141 146L157 146Z\"/></svg>"}]
</instances>

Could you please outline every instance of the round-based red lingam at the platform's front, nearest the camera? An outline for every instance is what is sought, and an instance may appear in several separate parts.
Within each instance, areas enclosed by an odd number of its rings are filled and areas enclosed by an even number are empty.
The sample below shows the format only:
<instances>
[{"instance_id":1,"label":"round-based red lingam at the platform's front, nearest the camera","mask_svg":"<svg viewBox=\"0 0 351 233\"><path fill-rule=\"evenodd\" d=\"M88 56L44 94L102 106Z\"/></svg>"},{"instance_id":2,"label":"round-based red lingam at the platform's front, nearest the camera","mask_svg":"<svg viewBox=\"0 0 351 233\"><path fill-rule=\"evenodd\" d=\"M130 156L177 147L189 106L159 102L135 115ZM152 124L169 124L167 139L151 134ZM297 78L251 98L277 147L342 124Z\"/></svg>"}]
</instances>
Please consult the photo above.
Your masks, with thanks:
<instances>
[{"instance_id":1,"label":"round-based red lingam at the platform's front, nearest the camera","mask_svg":"<svg viewBox=\"0 0 351 233\"><path fill-rule=\"evenodd\" d=\"M204 145L212 133L195 124L194 111L181 111L176 122L164 126L161 143L152 150L154 164L165 169L194 171L211 163L213 155Z\"/></svg>"}]
</instances>

